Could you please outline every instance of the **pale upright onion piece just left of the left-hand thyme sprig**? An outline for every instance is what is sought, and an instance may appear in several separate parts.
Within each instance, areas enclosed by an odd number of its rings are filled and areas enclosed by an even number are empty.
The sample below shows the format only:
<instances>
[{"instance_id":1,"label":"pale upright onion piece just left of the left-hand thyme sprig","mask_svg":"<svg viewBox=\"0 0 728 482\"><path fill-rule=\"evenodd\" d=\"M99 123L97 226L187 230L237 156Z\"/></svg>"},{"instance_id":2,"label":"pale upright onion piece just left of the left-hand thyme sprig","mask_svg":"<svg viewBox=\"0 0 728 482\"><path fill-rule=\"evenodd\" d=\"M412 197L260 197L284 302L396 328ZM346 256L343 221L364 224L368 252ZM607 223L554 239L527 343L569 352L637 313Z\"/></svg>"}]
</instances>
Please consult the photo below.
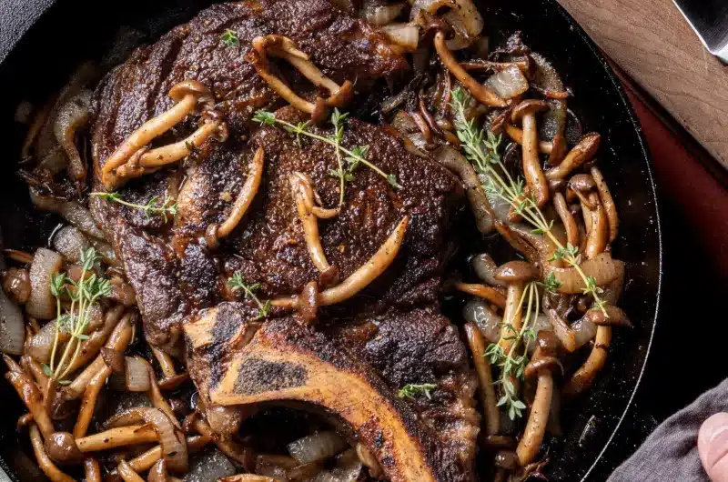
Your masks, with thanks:
<instances>
[{"instance_id":1,"label":"pale upright onion piece just left of the left-hand thyme sprig","mask_svg":"<svg viewBox=\"0 0 728 482\"><path fill-rule=\"evenodd\" d=\"M56 316L56 300L51 294L51 280L63 266L63 257L55 251L39 248L30 265L30 297L25 304L28 315L38 319Z\"/></svg>"}]
</instances>

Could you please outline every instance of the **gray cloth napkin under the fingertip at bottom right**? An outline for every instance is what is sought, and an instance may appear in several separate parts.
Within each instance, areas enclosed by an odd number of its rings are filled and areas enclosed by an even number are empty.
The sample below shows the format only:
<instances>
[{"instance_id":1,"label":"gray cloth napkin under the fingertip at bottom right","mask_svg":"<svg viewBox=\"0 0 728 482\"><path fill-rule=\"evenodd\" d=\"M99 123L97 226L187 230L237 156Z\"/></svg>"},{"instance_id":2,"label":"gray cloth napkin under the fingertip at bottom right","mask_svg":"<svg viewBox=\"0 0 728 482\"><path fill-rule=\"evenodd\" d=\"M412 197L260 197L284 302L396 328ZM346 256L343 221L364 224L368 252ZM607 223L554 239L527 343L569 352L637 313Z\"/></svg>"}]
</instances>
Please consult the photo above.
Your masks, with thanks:
<instances>
[{"instance_id":1,"label":"gray cloth napkin under the fingertip at bottom right","mask_svg":"<svg viewBox=\"0 0 728 482\"><path fill-rule=\"evenodd\" d=\"M665 420L608 482L708 481L698 457L698 430L719 412L728 412L728 380Z\"/></svg>"}]
</instances>

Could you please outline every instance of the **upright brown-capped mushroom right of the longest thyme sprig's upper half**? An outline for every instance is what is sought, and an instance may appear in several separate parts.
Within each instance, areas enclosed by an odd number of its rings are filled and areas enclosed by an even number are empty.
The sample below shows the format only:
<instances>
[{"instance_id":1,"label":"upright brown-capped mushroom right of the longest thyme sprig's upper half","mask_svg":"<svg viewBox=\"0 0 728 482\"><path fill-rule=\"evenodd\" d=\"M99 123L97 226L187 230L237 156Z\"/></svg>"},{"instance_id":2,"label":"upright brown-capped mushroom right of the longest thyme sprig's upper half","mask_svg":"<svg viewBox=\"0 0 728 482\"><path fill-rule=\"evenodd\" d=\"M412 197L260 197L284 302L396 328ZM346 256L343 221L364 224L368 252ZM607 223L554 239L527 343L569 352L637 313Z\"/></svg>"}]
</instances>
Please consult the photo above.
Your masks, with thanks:
<instances>
[{"instance_id":1,"label":"upright brown-capped mushroom right of the longest thyme sprig's upper half","mask_svg":"<svg viewBox=\"0 0 728 482\"><path fill-rule=\"evenodd\" d=\"M549 200L549 185L541 170L536 113L548 108L549 105L544 101L529 99L522 101L511 113L511 121L514 124L521 121L523 125L523 176L539 206L545 205Z\"/></svg>"}]
</instances>

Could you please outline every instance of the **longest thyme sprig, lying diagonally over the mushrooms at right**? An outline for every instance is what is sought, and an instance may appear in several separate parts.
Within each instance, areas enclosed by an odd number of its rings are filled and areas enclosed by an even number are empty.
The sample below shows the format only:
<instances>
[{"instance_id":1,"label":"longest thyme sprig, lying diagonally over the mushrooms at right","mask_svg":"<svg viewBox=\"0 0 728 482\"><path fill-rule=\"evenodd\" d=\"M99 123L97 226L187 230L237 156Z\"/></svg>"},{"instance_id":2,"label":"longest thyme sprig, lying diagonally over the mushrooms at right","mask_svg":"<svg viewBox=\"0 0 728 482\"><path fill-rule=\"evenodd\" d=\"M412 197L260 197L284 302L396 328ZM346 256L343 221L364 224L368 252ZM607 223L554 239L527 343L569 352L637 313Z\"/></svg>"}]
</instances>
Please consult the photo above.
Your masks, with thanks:
<instances>
[{"instance_id":1,"label":"longest thyme sprig, lying diagonally over the mushrooms at right","mask_svg":"<svg viewBox=\"0 0 728 482\"><path fill-rule=\"evenodd\" d=\"M502 135L495 136L490 130L475 125L473 119L468 120L465 115L466 106L470 102L470 94L458 87L452 91L452 107L455 110L455 125L458 138L462 143L462 150L470 162L481 173L488 177L483 189L490 199L499 198L508 203L515 213L525 219L534 227L533 232L548 236L556 246L551 261L563 260L569 266L576 269L576 272L584 281L583 293L594 298L594 305L599 307L607 316L605 309L606 302L600 295L604 290L597 286L592 276L586 276L581 269L581 256L575 246L567 244L563 246L561 241L554 236L552 228L553 221L543 216L541 208L532 196L525 193L523 180L513 179L501 161L498 149L501 145ZM555 278L552 281L556 281ZM555 289L555 283L551 282L551 289Z\"/></svg>"}]
</instances>

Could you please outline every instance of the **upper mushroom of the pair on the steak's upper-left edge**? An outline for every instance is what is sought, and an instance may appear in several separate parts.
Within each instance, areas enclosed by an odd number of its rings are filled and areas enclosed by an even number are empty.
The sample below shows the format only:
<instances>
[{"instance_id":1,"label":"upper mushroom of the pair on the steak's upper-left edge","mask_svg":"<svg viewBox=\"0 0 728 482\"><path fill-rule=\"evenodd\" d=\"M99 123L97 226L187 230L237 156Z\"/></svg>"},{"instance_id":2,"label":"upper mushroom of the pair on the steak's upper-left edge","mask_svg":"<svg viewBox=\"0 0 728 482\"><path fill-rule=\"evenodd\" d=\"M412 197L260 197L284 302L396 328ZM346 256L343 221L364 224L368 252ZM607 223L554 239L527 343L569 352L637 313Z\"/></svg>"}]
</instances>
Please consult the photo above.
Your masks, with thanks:
<instances>
[{"instance_id":1,"label":"upper mushroom of the pair on the steak's upper-left edge","mask_svg":"<svg viewBox=\"0 0 728 482\"><path fill-rule=\"evenodd\" d=\"M162 136L172 127L177 126L177 124L182 122L187 115L196 112L199 105L203 105L205 109L209 110L212 109L215 103L214 95L212 95L205 85L200 84L196 80L185 80L174 85L169 90L169 96L176 104L163 114L157 115L137 128L136 131L126 137L126 140L121 144L121 146L118 146L116 151L114 151L114 153L106 159L106 163L101 169L101 180L107 189L114 189L120 180L121 176L116 175L116 170L121 166L124 166L132 158L132 156L143 156L144 154L140 152L140 150L144 149L147 144L152 142L152 140L158 136ZM205 127L205 133L207 136L213 134L212 126L203 127ZM215 126L215 131L217 131L217 127L218 126ZM199 134L193 140L199 142ZM157 161L159 160L159 154L160 152L157 151ZM164 159L170 153L164 151L161 154L165 155L162 156ZM147 160L150 160L149 156L147 156ZM136 162L138 161L139 159L136 159ZM151 159L151 161L154 162L154 159Z\"/></svg>"}]
</instances>

